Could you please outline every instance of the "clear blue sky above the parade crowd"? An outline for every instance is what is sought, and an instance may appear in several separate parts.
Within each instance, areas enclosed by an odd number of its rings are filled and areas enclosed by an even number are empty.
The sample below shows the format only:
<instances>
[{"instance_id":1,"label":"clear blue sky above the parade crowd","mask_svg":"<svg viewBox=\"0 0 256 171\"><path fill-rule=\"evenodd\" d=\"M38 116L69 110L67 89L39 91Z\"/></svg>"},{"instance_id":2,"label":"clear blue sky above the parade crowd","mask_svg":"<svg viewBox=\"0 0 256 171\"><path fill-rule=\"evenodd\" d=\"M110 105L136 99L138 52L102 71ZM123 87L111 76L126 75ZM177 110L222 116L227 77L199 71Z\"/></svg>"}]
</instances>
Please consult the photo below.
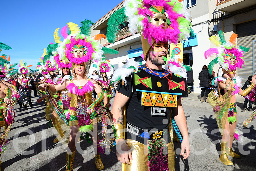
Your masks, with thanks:
<instances>
[{"instance_id":1,"label":"clear blue sky above the parade crowd","mask_svg":"<svg viewBox=\"0 0 256 171\"><path fill-rule=\"evenodd\" d=\"M55 43L56 28L61 29L67 22L80 24L86 18L95 23L121 1L1 1L0 42L13 48L1 54L10 55L11 63L24 59L34 70L43 49Z\"/></svg>"}]
</instances>

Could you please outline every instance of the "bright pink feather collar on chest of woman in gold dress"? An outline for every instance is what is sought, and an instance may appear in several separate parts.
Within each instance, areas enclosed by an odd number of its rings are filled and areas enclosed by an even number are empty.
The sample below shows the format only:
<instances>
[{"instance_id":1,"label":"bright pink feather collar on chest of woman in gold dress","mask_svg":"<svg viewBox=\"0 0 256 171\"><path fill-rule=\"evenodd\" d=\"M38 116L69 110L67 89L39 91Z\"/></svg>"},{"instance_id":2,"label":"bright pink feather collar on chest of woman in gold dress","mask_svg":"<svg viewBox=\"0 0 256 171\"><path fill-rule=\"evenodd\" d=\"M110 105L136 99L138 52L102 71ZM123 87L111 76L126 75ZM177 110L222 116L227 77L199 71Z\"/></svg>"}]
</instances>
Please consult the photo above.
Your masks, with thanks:
<instances>
[{"instance_id":1,"label":"bright pink feather collar on chest of woman in gold dress","mask_svg":"<svg viewBox=\"0 0 256 171\"><path fill-rule=\"evenodd\" d=\"M78 94L80 96L87 92L91 92L94 89L94 85L91 81L88 81L84 86L76 86L74 83L67 85L67 90L69 93Z\"/></svg>"}]
</instances>

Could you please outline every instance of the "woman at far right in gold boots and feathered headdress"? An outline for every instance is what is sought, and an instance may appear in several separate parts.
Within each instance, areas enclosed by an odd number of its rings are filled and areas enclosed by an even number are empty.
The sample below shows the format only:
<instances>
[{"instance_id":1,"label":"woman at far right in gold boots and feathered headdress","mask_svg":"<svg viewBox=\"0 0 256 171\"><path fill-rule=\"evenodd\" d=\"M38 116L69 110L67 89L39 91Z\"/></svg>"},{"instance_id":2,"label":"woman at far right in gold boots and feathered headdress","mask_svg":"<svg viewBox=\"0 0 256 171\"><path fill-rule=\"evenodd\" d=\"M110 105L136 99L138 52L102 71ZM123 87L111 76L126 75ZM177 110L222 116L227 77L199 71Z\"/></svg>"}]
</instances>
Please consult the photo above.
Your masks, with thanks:
<instances>
[{"instance_id":1,"label":"woman at far right in gold boots and feathered headdress","mask_svg":"<svg viewBox=\"0 0 256 171\"><path fill-rule=\"evenodd\" d=\"M240 158L232 149L234 139L238 140L239 135L236 131L237 110L236 97L240 94L246 96L256 84L256 75L252 78L252 83L245 90L241 89L241 78L235 77L236 68L241 68L244 64L243 52L247 52L249 48L237 47L237 34L232 34L229 41L225 40L224 33L219 31L220 40L217 36L211 36L210 40L218 46L218 48L210 48L205 51L205 58L216 54L217 57L209 64L209 70L215 63L218 63L221 68L218 71L218 77L214 78L212 84L218 85L218 91L212 90L209 95L209 104L213 108L213 112L222 135L221 139L221 154L219 160L225 165L233 165L227 155L234 158Z\"/></svg>"}]
</instances>

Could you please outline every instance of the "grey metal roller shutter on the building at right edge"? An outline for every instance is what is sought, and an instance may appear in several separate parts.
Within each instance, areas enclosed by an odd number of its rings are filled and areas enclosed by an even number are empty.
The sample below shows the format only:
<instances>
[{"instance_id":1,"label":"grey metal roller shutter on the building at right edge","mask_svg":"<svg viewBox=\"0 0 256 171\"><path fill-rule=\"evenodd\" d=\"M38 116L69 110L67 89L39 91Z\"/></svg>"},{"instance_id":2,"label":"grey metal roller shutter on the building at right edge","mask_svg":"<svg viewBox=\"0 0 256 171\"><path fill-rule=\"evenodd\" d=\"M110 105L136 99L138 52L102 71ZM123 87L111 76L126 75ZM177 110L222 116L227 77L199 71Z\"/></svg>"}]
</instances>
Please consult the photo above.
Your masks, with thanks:
<instances>
[{"instance_id":1,"label":"grey metal roller shutter on the building at right edge","mask_svg":"<svg viewBox=\"0 0 256 171\"><path fill-rule=\"evenodd\" d=\"M237 38L237 45L238 46L244 46L244 47L250 47L250 50L248 52L244 53L244 61L245 66L243 66L241 69L238 69L238 76L244 78L243 83L248 79L248 76L253 75L253 65L255 66L256 63L256 54L253 55L253 43L255 43L256 40L256 20L245 22L242 24L236 25L236 31L238 34ZM254 45L254 49L256 48L256 43ZM254 53L256 52L256 49L254 50ZM254 64L253 64L253 57L254 57ZM254 67L256 72L256 67Z\"/></svg>"}]
</instances>

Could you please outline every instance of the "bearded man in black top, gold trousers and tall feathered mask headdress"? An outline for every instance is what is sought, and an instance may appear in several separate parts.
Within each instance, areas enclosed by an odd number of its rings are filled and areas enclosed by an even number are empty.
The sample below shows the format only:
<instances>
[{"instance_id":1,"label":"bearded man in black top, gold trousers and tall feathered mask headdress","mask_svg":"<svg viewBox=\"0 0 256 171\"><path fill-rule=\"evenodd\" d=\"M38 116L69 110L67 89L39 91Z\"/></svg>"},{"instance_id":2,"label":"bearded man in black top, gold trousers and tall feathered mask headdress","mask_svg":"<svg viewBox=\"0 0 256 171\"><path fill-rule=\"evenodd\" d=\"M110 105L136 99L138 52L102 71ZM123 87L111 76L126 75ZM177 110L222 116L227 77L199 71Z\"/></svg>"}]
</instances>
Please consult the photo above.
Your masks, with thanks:
<instances>
[{"instance_id":1,"label":"bearded man in black top, gold trousers and tall feathered mask headdress","mask_svg":"<svg viewBox=\"0 0 256 171\"><path fill-rule=\"evenodd\" d=\"M174 170L173 128L182 142L183 159L189 156L190 145L180 98L187 97L186 69L174 59L174 51L167 62L168 41L177 43L189 37L190 20L176 0L126 0L117 13L108 21L108 40L115 39L112 35L117 29L113 26L122 22L114 24L115 17L123 16L131 33L141 32L146 61L143 65L127 61L113 74L113 82L121 79L112 107L117 160L125 171Z\"/></svg>"}]
</instances>

